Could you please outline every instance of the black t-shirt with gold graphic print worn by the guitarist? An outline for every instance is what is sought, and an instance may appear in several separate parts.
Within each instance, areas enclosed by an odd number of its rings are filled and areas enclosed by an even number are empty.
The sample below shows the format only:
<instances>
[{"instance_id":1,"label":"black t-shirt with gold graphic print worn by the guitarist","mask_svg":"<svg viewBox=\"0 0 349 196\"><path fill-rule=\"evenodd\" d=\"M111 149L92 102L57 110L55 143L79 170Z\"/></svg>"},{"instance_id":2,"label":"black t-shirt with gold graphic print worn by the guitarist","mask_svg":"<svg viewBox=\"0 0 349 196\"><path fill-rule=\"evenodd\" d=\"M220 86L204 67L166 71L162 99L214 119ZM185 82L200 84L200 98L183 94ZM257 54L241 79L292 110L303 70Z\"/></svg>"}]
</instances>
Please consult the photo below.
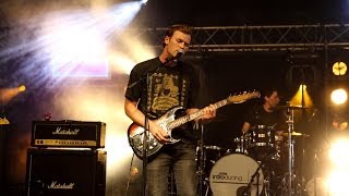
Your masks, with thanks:
<instances>
[{"instance_id":1,"label":"black t-shirt with gold graphic print worn by the guitarist","mask_svg":"<svg viewBox=\"0 0 349 196\"><path fill-rule=\"evenodd\" d=\"M148 88L147 88L148 72ZM139 101L137 108L151 119L157 119L173 107L200 108L198 73L182 61L165 66L159 58L136 64L130 74L125 97ZM191 126L180 131L180 137L193 139Z\"/></svg>"}]
</instances>

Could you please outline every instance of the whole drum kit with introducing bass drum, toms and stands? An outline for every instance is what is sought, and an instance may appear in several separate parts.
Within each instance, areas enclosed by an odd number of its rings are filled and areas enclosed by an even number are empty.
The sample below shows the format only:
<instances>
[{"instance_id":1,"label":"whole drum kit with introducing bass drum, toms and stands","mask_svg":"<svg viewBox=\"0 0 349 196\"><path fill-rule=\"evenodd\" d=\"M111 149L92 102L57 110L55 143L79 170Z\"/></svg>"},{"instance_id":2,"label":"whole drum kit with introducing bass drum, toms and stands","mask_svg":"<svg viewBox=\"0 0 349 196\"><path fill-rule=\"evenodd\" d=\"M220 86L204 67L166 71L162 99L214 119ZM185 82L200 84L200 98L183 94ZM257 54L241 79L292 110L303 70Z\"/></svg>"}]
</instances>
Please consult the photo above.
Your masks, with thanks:
<instances>
[{"instance_id":1,"label":"whole drum kit with introducing bass drum, toms and stands","mask_svg":"<svg viewBox=\"0 0 349 196\"><path fill-rule=\"evenodd\" d=\"M258 124L233 139L236 149L198 145L196 160L204 196L291 196L301 195L300 181L294 172L296 138L309 135L293 128L293 110L285 109L287 132ZM285 139L284 139L285 138Z\"/></svg>"}]
</instances>

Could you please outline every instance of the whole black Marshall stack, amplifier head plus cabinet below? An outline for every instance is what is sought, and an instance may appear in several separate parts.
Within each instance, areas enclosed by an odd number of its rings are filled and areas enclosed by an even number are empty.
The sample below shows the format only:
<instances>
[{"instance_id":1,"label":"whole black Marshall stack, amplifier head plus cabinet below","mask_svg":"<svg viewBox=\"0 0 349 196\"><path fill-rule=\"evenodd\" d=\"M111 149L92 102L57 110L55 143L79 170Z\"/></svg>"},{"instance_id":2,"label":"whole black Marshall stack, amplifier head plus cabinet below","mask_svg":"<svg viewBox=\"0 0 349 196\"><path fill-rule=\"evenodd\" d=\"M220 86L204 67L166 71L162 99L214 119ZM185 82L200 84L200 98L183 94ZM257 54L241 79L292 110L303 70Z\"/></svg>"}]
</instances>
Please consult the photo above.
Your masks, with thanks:
<instances>
[{"instance_id":1,"label":"whole black Marshall stack, amplifier head plus cabinet below","mask_svg":"<svg viewBox=\"0 0 349 196\"><path fill-rule=\"evenodd\" d=\"M26 196L105 196L106 123L33 121Z\"/></svg>"}]
</instances>

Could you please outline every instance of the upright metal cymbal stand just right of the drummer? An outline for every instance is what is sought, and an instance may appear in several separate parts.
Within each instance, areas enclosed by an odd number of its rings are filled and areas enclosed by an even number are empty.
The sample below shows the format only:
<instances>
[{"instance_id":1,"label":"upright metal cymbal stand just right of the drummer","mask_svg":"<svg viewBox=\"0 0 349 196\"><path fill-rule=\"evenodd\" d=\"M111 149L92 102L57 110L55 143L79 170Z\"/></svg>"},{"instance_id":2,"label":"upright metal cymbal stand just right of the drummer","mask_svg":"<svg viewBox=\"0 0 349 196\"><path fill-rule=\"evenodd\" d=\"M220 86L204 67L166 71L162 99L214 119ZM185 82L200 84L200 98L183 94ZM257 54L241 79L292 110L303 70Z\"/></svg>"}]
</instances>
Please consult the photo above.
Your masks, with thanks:
<instances>
[{"instance_id":1,"label":"upright metal cymbal stand just right of the drummer","mask_svg":"<svg viewBox=\"0 0 349 196\"><path fill-rule=\"evenodd\" d=\"M288 125L288 195L292 195L292 177L293 177L293 140L292 140L292 132L294 128L294 113L291 108L287 109L287 125Z\"/></svg>"}]
</instances>

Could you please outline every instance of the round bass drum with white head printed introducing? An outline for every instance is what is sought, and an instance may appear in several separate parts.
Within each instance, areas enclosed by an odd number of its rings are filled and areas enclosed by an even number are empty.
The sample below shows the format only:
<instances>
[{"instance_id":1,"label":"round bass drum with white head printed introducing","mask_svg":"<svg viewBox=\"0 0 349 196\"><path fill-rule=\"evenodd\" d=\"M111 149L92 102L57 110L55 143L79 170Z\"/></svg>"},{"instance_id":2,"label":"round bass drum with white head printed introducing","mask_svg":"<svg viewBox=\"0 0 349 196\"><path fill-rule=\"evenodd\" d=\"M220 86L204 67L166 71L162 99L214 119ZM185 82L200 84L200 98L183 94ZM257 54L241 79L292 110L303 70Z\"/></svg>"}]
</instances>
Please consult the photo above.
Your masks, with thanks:
<instances>
[{"instance_id":1,"label":"round bass drum with white head printed introducing","mask_svg":"<svg viewBox=\"0 0 349 196\"><path fill-rule=\"evenodd\" d=\"M264 175L262 168L255 175L251 188L248 184L256 172L258 163L243 154L231 154L220 158L209 172L209 186L213 195L261 195ZM246 192L248 191L248 192Z\"/></svg>"}]
</instances>

